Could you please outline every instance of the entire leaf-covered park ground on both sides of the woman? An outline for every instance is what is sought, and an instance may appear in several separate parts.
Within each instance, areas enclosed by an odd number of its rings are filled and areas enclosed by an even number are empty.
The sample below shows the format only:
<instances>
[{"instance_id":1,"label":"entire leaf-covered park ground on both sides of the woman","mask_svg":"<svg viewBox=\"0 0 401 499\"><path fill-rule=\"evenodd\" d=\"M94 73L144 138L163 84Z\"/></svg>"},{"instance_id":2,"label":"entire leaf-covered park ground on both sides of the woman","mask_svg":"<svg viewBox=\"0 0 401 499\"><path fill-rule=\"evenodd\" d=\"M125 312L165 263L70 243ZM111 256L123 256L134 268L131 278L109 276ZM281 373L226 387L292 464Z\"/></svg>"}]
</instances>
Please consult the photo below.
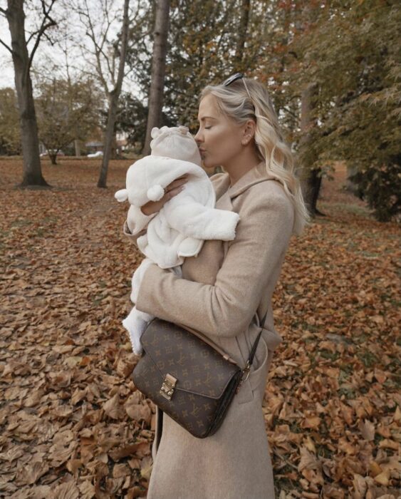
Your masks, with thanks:
<instances>
[{"instance_id":1,"label":"entire leaf-covered park ground on both sides of the woman","mask_svg":"<svg viewBox=\"0 0 401 499\"><path fill-rule=\"evenodd\" d=\"M142 258L113 195L130 161L43 161L21 190L0 160L0 497L145 497L155 407L130 380L121 319ZM400 227L323 181L326 213L293 238L274 294L264 400L279 499L399 498ZM196 498L190 498L196 499ZM253 498L244 498L253 499Z\"/></svg>"}]
</instances>

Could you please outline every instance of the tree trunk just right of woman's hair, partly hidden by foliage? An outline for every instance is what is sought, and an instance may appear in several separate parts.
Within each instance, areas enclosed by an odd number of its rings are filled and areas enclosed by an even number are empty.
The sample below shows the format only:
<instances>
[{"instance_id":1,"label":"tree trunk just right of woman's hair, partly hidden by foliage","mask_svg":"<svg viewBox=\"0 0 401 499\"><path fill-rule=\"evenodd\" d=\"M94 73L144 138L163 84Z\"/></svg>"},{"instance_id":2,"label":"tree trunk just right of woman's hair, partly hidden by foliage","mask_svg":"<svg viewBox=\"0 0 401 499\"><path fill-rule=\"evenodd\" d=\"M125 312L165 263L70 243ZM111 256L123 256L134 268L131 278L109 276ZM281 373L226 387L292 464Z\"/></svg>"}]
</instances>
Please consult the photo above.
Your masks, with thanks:
<instances>
[{"instance_id":1,"label":"tree trunk just right of woman's hair, partly hidden by foliage","mask_svg":"<svg viewBox=\"0 0 401 499\"><path fill-rule=\"evenodd\" d=\"M316 83L311 83L301 95L301 132L303 133L303 136L300 141L300 148L301 150L308 149L308 158L310 158L309 160L312 164L316 158L313 157L313 144L311 143L311 134L309 133L309 130L311 130L314 125L313 119L311 118L311 110L312 98L316 90ZM305 161L303 161L303 163L305 163ZM322 215L316 208L322 180L320 174L321 168L312 169L311 165L302 165L300 180L303 199L305 200L306 207L312 217L315 215Z\"/></svg>"}]
</instances>

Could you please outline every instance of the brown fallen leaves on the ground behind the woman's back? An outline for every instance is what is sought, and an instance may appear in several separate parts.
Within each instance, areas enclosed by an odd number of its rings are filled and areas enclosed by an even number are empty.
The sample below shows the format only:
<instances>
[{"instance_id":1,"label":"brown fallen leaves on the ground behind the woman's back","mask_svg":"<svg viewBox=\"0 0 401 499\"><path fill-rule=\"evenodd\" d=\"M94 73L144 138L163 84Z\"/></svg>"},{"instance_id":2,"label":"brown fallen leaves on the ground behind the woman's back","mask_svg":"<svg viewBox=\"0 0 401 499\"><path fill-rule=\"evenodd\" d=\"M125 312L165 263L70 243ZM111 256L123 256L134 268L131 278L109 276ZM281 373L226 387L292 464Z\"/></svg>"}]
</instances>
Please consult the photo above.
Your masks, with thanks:
<instances>
[{"instance_id":1,"label":"brown fallen leaves on the ground behind the woman's back","mask_svg":"<svg viewBox=\"0 0 401 499\"><path fill-rule=\"evenodd\" d=\"M324 185L323 202L338 196ZM340 197L291 242L274 294L264 415L280 499L400 498L399 227Z\"/></svg>"}]
</instances>

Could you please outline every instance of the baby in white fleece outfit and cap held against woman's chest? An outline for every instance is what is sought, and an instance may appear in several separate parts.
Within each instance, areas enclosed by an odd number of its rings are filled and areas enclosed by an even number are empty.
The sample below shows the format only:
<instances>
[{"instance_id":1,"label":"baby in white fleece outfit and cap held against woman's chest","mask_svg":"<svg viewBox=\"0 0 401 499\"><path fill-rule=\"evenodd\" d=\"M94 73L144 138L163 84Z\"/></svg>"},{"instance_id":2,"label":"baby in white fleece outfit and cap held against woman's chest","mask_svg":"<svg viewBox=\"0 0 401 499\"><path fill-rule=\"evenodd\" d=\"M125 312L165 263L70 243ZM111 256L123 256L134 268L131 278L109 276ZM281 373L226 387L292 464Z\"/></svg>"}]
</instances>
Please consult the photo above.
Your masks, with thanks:
<instances>
[{"instance_id":1,"label":"baby in white fleece outfit and cap held against woman's chest","mask_svg":"<svg viewBox=\"0 0 401 499\"><path fill-rule=\"evenodd\" d=\"M146 234L137 238L137 247L146 258L132 275L130 299L133 304L137 302L143 274L150 264L156 263L182 277L180 265L185 257L197 256L204 240L234 240L239 222L236 212L214 208L213 185L201 166L197 143L187 127L153 128L151 135L151 154L128 168L126 188L115 192L118 201L130 202L127 225L130 226L130 222L135 225L140 207L150 200L160 200L165 187L173 180L188 174L188 181L150 220ZM153 318L133 307L123 320L137 355L142 354L140 336Z\"/></svg>"}]
</instances>

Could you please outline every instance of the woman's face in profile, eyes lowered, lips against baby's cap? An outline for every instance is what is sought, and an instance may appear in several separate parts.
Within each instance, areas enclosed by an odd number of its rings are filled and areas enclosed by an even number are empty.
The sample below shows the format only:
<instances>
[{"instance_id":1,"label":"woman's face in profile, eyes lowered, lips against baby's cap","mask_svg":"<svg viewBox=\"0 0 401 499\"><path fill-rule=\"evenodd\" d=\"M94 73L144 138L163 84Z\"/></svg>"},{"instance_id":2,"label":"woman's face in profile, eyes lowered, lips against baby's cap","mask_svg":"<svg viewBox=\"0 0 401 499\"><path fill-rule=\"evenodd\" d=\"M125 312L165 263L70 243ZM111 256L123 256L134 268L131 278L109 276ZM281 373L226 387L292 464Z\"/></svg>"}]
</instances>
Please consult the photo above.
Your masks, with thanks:
<instances>
[{"instance_id":1,"label":"woman's face in profile, eyes lowered, lips against baby's cap","mask_svg":"<svg viewBox=\"0 0 401 499\"><path fill-rule=\"evenodd\" d=\"M194 139L199 147L205 168L225 166L236 158L244 147L243 127L222 115L214 96L209 94L199 104L199 130Z\"/></svg>"}]
</instances>

